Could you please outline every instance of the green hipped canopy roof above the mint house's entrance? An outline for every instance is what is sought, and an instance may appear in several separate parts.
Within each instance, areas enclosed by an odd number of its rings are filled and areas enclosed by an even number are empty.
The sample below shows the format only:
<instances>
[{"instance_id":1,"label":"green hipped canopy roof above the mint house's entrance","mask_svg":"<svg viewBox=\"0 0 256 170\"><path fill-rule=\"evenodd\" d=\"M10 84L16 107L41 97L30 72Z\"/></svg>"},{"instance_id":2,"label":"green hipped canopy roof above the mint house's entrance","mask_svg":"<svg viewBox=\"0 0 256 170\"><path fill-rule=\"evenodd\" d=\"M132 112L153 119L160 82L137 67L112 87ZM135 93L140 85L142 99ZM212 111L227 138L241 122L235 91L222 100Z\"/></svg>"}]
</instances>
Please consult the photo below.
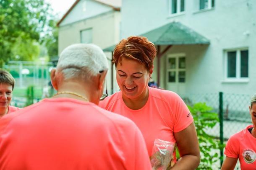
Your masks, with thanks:
<instances>
[{"instance_id":1,"label":"green hipped canopy roof above the mint house's entrance","mask_svg":"<svg viewBox=\"0 0 256 170\"><path fill-rule=\"evenodd\" d=\"M171 22L142 34L155 45L210 44L210 41L179 22ZM115 45L103 49L112 52Z\"/></svg>"}]
</instances>

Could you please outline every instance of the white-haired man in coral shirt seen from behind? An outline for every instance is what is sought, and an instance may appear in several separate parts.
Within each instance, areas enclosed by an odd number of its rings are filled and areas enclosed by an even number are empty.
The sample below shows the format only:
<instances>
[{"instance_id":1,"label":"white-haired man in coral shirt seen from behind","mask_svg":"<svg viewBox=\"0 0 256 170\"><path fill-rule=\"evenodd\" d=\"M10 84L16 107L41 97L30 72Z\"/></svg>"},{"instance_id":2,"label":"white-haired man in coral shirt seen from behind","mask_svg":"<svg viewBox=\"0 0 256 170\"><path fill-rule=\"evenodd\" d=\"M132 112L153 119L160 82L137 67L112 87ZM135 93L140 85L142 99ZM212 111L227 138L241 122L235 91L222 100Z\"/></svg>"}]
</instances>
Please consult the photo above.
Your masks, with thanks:
<instances>
[{"instance_id":1,"label":"white-haired man in coral shirt seen from behind","mask_svg":"<svg viewBox=\"0 0 256 170\"><path fill-rule=\"evenodd\" d=\"M0 169L151 169L137 126L97 106L107 68L98 46L64 49L51 71L57 94L1 119Z\"/></svg>"}]
</instances>

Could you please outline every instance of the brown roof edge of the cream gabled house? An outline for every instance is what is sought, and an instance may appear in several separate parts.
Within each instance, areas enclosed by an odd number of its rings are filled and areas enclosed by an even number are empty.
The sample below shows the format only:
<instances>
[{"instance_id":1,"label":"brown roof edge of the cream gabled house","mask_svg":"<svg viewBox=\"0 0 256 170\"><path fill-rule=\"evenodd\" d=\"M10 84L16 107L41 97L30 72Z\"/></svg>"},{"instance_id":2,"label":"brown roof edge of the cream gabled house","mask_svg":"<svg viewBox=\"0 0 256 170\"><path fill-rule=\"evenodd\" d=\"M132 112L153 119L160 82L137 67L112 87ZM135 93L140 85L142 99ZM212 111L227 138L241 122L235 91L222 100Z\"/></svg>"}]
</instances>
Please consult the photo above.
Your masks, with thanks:
<instances>
[{"instance_id":1,"label":"brown roof edge of the cream gabled house","mask_svg":"<svg viewBox=\"0 0 256 170\"><path fill-rule=\"evenodd\" d=\"M60 23L68 16L68 14L71 12L71 10L73 10L73 8L78 4L80 0L76 0L73 5L68 9L68 11L63 15L63 17L60 19L60 21L57 23L57 26L60 25ZM103 5L106 5L106 6L109 6L111 8L113 8L113 10L116 10L116 11L120 11L120 7L121 7L121 3L120 3L120 0L116 0L114 2L112 2L112 4L110 5L109 3L106 3L104 0L94 0L96 1L97 3L101 3Z\"/></svg>"}]
</instances>

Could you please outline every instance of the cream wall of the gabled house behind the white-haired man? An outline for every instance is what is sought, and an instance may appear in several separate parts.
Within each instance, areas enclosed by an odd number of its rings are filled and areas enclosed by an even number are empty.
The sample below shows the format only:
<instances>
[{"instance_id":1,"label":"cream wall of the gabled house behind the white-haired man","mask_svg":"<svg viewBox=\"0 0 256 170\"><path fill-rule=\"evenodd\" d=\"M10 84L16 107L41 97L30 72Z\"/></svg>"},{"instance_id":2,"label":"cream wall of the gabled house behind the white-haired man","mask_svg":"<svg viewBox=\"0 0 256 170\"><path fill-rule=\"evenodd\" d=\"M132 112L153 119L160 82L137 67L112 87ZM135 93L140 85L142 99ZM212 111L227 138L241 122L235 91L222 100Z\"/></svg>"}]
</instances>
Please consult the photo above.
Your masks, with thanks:
<instances>
[{"instance_id":1,"label":"cream wall of the gabled house behind the white-haired man","mask_svg":"<svg viewBox=\"0 0 256 170\"><path fill-rule=\"evenodd\" d=\"M94 3L93 3L94 4ZM77 4L76 6L78 6ZM102 4L99 4L101 6ZM91 10L95 10L98 8L94 8L95 6L90 7ZM112 8L111 8L112 9ZM71 12L77 13L80 11L80 8L74 8ZM97 11L95 10L95 11ZM67 16L69 17L69 15ZM102 49L107 48L108 46L112 46L113 44L118 43L120 40L120 12L111 10L107 13L101 13L94 17L90 17L87 19L83 19L81 21L76 21L69 24L60 24L59 27L59 54L65 49L67 46L71 44L81 43L80 31L92 28L92 43L98 45ZM75 18L76 19L76 18ZM108 58L109 70L107 73L107 89L108 93L111 94L111 53L105 53ZM115 78L115 66L113 67L113 92L119 90L118 85L116 83Z\"/></svg>"}]
</instances>

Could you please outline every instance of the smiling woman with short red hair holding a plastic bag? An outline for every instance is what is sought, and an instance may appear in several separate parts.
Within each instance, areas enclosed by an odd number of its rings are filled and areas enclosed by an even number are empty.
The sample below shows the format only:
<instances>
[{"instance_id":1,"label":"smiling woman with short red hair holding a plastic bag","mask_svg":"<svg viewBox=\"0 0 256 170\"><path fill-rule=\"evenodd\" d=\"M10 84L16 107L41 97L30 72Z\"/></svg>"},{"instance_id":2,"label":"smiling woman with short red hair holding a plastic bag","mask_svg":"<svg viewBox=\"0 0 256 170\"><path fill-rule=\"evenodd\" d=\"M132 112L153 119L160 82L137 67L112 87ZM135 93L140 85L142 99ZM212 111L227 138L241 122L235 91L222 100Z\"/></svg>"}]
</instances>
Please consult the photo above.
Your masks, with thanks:
<instances>
[{"instance_id":1,"label":"smiling woman with short red hair holding a plastic bag","mask_svg":"<svg viewBox=\"0 0 256 170\"><path fill-rule=\"evenodd\" d=\"M149 157L154 154L155 141L171 142L177 144L180 159L176 163L174 149L168 168L194 170L200 162L200 150L190 111L176 93L148 86L155 56L156 48L146 37L121 40L113 54L121 91L102 100L99 106L135 122L144 136ZM151 159L152 166L155 161Z\"/></svg>"}]
</instances>

